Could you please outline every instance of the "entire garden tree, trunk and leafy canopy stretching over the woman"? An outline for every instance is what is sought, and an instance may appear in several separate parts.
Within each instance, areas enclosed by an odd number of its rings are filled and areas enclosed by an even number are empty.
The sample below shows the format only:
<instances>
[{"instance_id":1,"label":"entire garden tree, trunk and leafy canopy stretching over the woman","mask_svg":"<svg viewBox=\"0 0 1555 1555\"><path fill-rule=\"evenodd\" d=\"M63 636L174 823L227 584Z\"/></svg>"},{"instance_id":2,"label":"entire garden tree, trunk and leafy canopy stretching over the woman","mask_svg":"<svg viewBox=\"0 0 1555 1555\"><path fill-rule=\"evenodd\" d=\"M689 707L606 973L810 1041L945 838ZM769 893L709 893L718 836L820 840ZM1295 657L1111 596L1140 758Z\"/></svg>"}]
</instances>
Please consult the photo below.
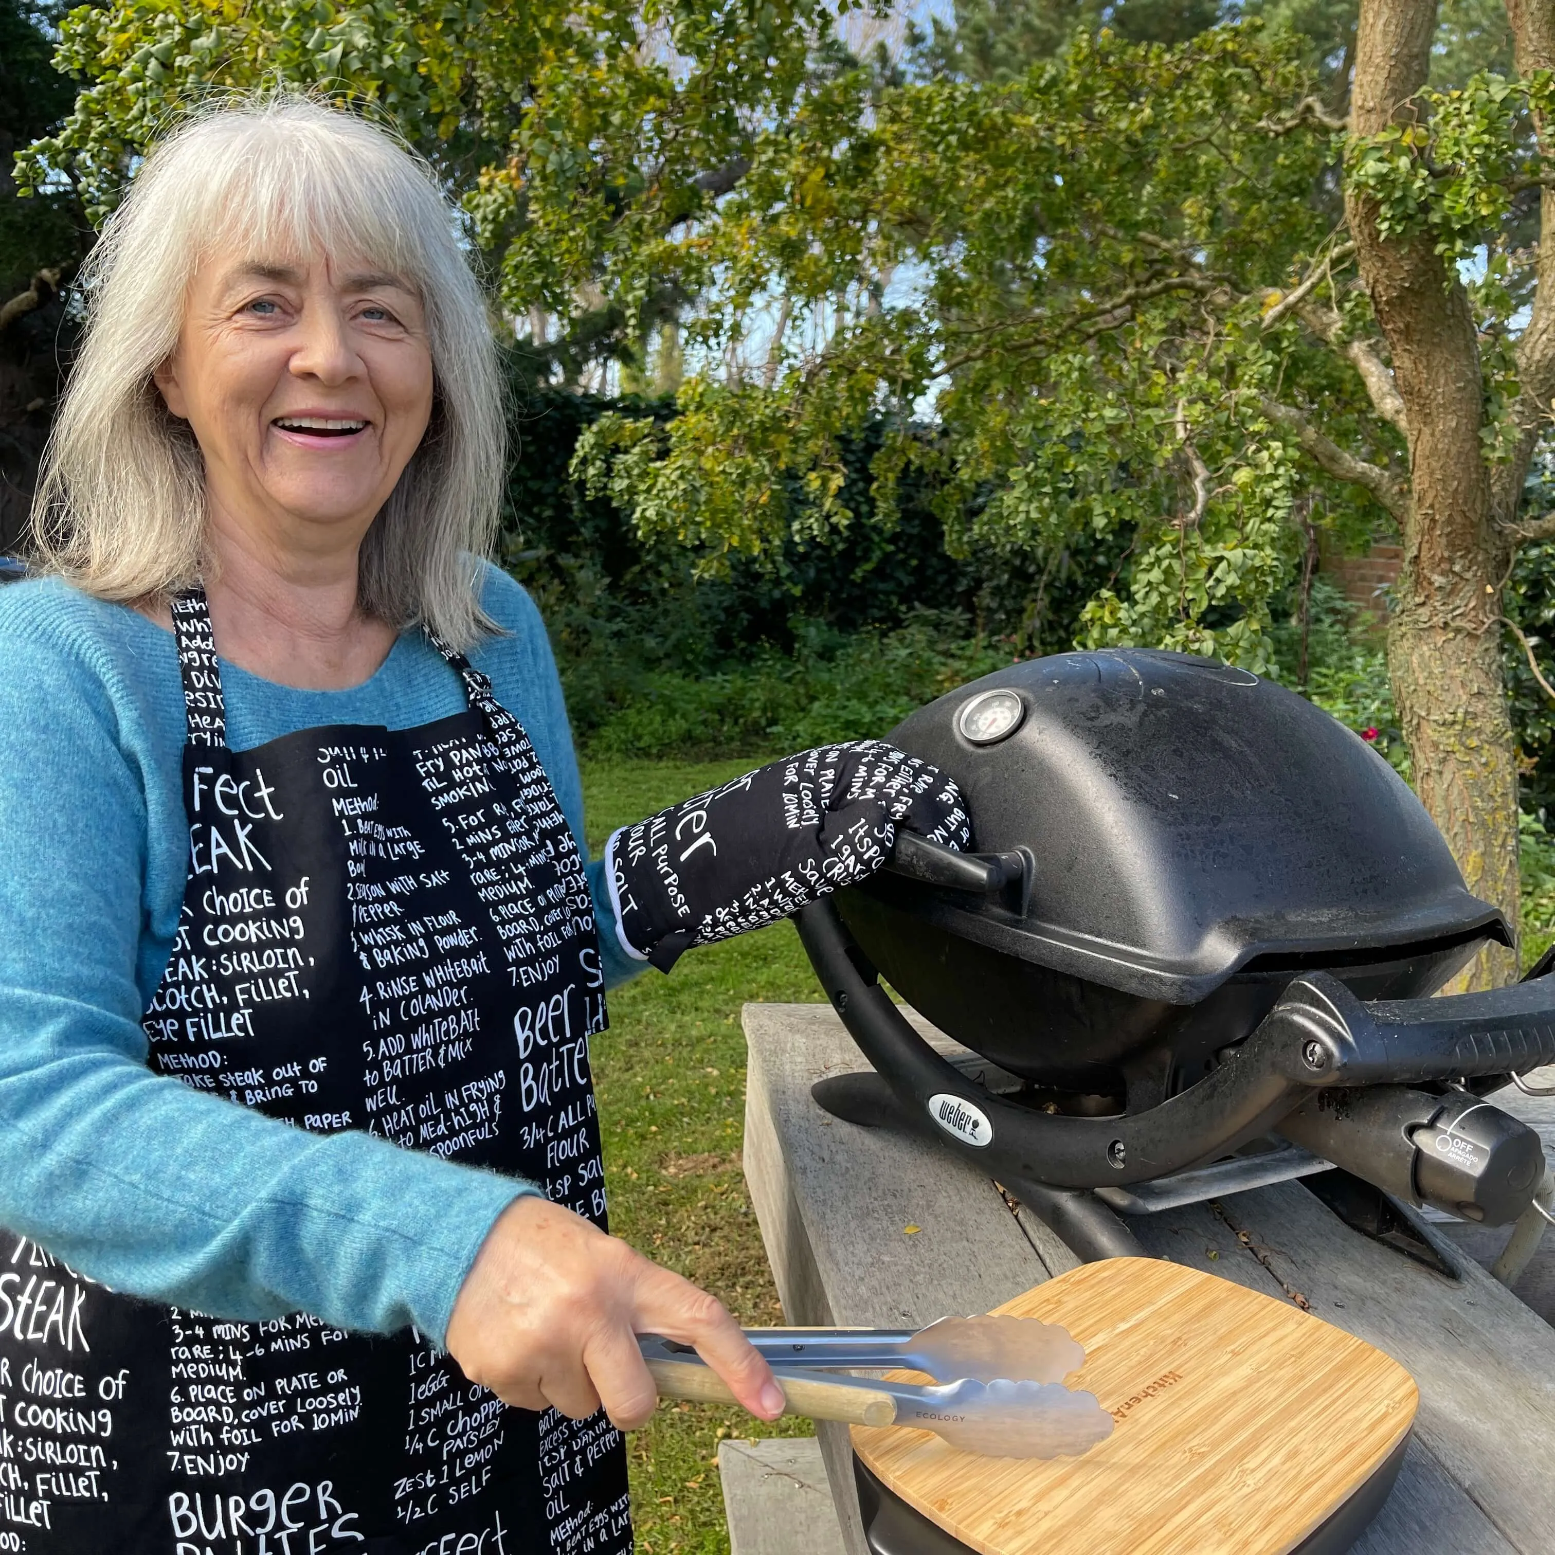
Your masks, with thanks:
<instances>
[{"instance_id":1,"label":"entire garden tree, trunk and leafy canopy stretching over the woman","mask_svg":"<svg viewBox=\"0 0 1555 1555\"><path fill-rule=\"evenodd\" d=\"M846 526L883 418L875 512L935 476L950 543L1029 568L1036 614L1076 536L1112 544L1084 641L1261 667L1292 507L1396 526L1415 782L1515 917L1499 620L1516 547L1555 533L1521 510L1555 403L1552 12L1510 0L1518 79L1431 87L1434 0L1364 0L1353 44L1342 0L1281 3L1333 47L1082 28L984 81L855 59L810 0L112 0L67 20L90 84L23 166L106 208L191 90L381 104L466 191L515 314L639 362L680 320L676 415L603 417L577 466L711 555ZM1490 47L1482 0L1454 14Z\"/></svg>"}]
</instances>

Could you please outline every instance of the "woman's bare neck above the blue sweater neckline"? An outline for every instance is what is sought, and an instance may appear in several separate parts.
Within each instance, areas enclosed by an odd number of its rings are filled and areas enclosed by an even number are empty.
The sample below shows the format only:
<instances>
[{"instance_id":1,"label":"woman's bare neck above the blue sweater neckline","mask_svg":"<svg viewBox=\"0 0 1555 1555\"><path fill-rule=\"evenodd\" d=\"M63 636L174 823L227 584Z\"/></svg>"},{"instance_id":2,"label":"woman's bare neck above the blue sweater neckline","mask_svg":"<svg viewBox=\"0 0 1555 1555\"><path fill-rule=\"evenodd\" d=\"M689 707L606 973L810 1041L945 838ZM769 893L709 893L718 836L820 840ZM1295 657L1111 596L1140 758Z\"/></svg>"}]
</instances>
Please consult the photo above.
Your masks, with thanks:
<instances>
[{"instance_id":1,"label":"woman's bare neck above the blue sweater neckline","mask_svg":"<svg viewBox=\"0 0 1555 1555\"><path fill-rule=\"evenodd\" d=\"M272 552L213 515L208 547L205 597L216 652L230 664L299 690L348 690L389 656L393 627L358 602L359 544Z\"/></svg>"}]
</instances>

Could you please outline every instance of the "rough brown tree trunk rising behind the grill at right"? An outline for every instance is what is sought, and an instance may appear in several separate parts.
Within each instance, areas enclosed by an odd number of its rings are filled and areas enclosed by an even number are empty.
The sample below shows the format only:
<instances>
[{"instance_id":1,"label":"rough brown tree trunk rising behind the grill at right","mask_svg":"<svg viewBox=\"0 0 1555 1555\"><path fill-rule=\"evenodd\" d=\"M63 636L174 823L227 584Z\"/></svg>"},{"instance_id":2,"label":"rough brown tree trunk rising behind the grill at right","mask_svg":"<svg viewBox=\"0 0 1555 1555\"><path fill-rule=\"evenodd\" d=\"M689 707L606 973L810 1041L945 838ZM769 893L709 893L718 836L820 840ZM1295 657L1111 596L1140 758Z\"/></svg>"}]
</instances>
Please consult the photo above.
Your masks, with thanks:
<instances>
[{"instance_id":1,"label":"rough brown tree trunk rising behind the grill at right","mask_svg":"<svg viewBox=\"0 0 1555 1555\"><path fill-rule=\"evenodd\" d=\"M1409 448L1389 670L1415 785L1473 888L1515 917L1518 774L1502 589L1518 547L1555 535L1555 516L1519 518L1555 404L1555 163L1539 156L1555 112L1555 8L1508 0L1507 17L1530 86L1519 93L1482 76L1441 98L1421 92L1431 0L1362 0L1345 211ZM1519 110L1533 132L1527 160L1516 154ZM1538 250L1493 249L1490 288L1466 286L1457 261L1521 194L1539 204ZM1522 285L1497 299L1502 280ZM1476 308L1482 299L1493 306ZM1507 328L1513 299L1529 308L1518 336Z\"/></svg>"}]
</instances>

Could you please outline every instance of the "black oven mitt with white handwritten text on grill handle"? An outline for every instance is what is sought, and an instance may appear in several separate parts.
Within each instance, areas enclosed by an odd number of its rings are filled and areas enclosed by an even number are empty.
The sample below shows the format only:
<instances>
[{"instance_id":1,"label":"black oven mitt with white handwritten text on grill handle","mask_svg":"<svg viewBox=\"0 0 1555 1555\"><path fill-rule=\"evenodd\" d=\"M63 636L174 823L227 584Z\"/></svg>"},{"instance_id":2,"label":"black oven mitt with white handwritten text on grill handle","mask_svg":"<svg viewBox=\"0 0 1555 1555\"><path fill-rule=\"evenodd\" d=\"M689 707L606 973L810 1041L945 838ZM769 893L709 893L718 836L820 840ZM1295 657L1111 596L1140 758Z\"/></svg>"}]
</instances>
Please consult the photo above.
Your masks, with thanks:
<instances>
[{"instance_id":1,"label":"black oven mitt with white handwritten text on grill handle","mask_svg":"<svg viewBox=\"0 0 1555 1555\"><path fill-rule=\"evenodd\" d=\"M875 872L905 826L972 840L961 791L883 740L799 751L624 826L605 846L616 935L669 972L692 945L743 935Z\"/></svg>"}]
</instances>

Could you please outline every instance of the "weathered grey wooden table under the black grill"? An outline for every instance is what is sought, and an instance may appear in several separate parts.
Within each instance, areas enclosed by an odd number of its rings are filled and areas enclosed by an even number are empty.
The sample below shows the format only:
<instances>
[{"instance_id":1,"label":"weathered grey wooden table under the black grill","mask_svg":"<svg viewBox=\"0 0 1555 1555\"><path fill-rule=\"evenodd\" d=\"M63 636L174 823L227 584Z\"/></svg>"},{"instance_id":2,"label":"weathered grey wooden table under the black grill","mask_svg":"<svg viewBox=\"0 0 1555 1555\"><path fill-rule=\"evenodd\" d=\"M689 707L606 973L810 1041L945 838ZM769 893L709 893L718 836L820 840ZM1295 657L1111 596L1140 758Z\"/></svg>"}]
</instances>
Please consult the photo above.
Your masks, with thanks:
<instances>
[{"instance_id":1,"label":"weathered grey wooden table under the black grill","mask_svg":"<svg viewBox=\"0 0 1555 1555\"><path fill-rule=\"evenodd\" d=\"M827 1006L746 1005L745 1036L745 1177L788 1322L896 1328L981 1312L1078 1263L949 1151L816 1107L815 1081L865 1067ZM1350 1230L1300 1183L1129 1225L1157 1256L1300 1295L1413 1373L1415 1437L1356 1555L1555 1552L1555 1330L1440 1228L1424 1232L1457 1280ZM866 1555L846 1427L819 1437L844 1544Z\"/></svg>"}]
</instances>

